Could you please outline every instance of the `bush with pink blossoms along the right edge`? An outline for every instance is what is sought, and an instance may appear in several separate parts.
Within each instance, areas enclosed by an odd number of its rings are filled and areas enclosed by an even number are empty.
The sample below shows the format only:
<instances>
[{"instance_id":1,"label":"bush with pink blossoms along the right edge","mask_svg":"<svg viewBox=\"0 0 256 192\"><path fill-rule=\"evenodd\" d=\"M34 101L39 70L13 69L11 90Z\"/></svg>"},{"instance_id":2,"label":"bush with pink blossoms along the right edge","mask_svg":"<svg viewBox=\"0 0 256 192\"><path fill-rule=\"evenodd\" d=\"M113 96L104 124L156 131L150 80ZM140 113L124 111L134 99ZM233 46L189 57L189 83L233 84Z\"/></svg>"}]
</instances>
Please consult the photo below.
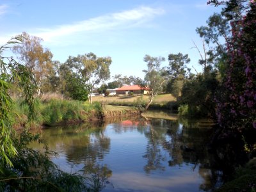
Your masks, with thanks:
<instances>
[{"instance_id":1,"label":"bush with pink blossoms along the right edge","mask_svg":"<svg viewBox=\"0 0 256 192\"><path fill-rule=\"evenodd\" d=\"M234 19L230 24L232 38L227 42L228 69L223 89L216 97L218 124L223 130L233 133L255 134L256 2L250 3L250 8L240 20ZM253 147L255 139L251 141Z\"/></svg>"}]
</instances>

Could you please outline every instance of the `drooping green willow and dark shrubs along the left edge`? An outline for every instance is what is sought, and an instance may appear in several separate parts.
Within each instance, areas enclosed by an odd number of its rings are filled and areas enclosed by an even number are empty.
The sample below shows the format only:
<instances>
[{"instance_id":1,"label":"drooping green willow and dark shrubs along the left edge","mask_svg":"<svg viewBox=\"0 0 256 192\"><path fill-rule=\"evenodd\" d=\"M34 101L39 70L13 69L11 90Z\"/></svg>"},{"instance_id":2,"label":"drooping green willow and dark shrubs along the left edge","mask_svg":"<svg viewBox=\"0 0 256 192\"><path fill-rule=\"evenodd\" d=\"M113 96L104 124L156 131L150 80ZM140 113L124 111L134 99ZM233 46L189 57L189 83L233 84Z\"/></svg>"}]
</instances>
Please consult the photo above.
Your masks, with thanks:
<instances>
[{"instance_id":1,"label":"drooping green willow and dark shrubs along the left edge","mask_svg":"<svg viewBox=\"0 0 256 192\"><path fill-rule=\"evenodd\" d=\"M20 134L15 133L12 117L15 104L9 95L13 82L24 99L20 102L22 108L19 112L27 113L28 121L36 115L33 94L37 87L33 74L12 58L2 56L3 51L10 48L9 45L17 44L20 40L21 36L13 38L0 47L0 191L99 191L103 188L103 183L97 182L97 185L93 185L94 180L88 180L76 173L62 172L50 161L49 156L56 154L50 152L47 145L44 145L44 152L29 148L32 141L44 143L38 134L33 135L28 129ZM70 108L73 109L74 106ZM72 112L67 109L67 116L64 118L68 119Z\"/></svg>"}]
</instances>

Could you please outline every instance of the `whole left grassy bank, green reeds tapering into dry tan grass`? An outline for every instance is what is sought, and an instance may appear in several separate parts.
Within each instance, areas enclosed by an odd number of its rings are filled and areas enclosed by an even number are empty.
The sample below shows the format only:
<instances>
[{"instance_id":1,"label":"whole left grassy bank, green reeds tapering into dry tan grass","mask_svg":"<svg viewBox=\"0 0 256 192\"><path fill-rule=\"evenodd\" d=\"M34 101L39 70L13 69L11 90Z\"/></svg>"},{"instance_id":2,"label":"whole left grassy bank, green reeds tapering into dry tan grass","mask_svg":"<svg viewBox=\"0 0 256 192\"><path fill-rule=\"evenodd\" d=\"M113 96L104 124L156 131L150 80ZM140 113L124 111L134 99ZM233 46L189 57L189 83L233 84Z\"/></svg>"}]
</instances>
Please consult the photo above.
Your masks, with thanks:
<instances>
[{"instance_id":1,"label":"whole left grassy bank, green reeds tapering into dry tan grass","mask_svg":"<svg viewBox=\"0 0 256 192\"><path fill-rule=\"evenodd\" d=\"M138 113L138 109L136 108L102 105L100 102L89 104L88 102L77 100L37 99L36 119L28 124L28 111L28 106L21 105L20 100L16 100L12 114L16 129L26 126L39 127L40 125L75 124Z\"/></svg>"}]
</instances>

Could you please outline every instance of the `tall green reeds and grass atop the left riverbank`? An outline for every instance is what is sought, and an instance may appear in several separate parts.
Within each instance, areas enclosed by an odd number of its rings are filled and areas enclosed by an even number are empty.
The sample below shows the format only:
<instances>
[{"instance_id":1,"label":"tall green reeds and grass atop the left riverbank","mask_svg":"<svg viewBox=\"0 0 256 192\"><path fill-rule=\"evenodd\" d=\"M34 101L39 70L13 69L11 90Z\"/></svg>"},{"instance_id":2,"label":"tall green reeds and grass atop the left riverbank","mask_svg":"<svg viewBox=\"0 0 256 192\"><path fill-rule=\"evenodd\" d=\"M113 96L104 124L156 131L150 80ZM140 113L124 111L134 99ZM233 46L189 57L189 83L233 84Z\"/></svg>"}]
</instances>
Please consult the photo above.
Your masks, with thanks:
<instances>
[{"instance_id":1,"label":"tall green reeds and grass atop the left riverbank","mask_svg":"<svg viewBox=\"0 0 256 192\"><path fill-rule=\"evenodd\" d=\"M99 102L89 104L78 100L38 99L37 103L37 118L28 124L28 106L21 105L20 100L15 101L12 115L15 127L31 126L31 124L52 126L65 122L83 122L92 116L99 116L102 112Z\"/></svg>"}]
</instances>

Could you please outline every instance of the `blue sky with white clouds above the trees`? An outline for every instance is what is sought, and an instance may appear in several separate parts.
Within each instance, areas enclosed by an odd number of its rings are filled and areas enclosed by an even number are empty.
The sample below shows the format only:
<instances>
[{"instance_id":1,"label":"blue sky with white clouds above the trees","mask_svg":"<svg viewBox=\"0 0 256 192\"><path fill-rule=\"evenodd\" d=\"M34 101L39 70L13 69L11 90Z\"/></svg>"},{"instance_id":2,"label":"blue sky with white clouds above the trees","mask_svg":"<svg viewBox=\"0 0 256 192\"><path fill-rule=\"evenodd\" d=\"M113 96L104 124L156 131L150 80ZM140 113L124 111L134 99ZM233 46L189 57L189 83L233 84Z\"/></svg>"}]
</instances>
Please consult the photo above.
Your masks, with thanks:
<instances>
[{"instance_id":1,"label":"blue sky with white clouds above the trees","mask_svg":"<svg viewBox=\"0 0 256 192\"><path fill-rule=\"evenodd\" d=\"M64 62L68 56L93 52L113 60L111 76L143 78L145 54L189 54L198 66L202 47L196 27L206 24L220 8L207 0L0 0L0 45L26 31L44 39L43 45ZM164 62L168 65L168 62Z\"/></svg>"}]
</instances>

